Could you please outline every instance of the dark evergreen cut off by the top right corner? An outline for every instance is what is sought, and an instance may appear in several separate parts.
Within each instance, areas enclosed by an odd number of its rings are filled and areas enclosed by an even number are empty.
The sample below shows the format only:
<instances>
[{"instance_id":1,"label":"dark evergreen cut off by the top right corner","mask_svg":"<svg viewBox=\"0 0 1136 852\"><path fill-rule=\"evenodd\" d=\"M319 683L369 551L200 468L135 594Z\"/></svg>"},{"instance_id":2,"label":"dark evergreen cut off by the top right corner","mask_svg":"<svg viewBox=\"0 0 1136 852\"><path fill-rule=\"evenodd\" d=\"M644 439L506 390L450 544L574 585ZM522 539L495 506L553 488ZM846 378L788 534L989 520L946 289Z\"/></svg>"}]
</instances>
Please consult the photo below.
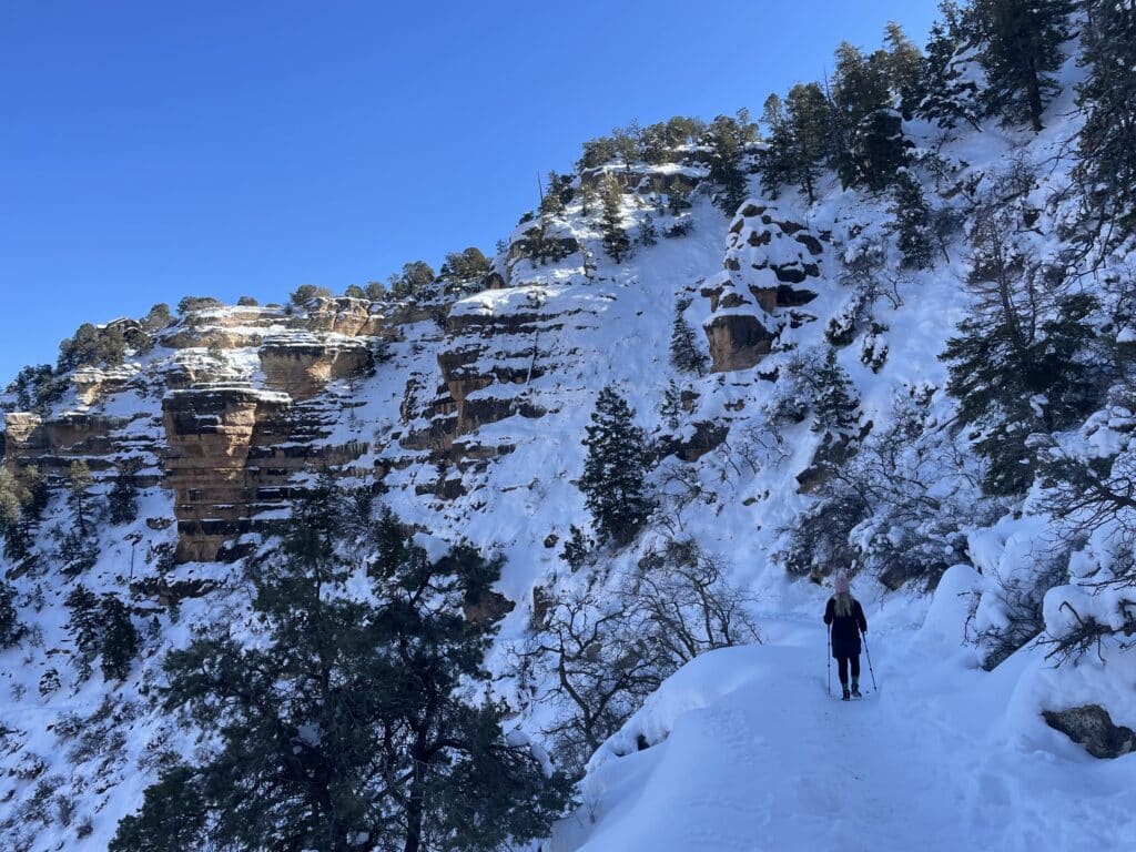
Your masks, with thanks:
<instances>
[{"instance_id":1,"label":"dark evergreen cut off by the top right corner","mask_svg":"<svg viewBox=\"0 0 1136 852\"><path fill-rule=\"evenodd\" d=\"M1136 7L1086 0L1081 64L1088 76L1077 87L1085 110L1077 174L1105 242L1136 233Z\"/></svg>"}]
</instances>

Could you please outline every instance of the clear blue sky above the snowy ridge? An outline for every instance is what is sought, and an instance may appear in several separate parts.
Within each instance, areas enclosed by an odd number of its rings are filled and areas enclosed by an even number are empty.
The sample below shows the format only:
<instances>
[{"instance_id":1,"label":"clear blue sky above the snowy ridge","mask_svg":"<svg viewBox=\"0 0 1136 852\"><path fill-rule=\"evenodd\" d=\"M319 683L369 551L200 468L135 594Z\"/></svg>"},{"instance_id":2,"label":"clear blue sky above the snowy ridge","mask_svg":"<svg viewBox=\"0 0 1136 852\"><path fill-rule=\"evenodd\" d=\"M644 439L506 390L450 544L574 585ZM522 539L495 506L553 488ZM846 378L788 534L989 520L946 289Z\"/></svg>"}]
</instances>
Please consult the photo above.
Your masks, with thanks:
<instances>
[{"instance_id":1,"label":"clear blue sky above the snowy ridge","mask_svg":"<svg viewBox=\"0 0 1136 852\"><path fill-rule=\"evenodd\" d=\"M83 321L487 253L585 139L760 112L933 0L0 0L0 383Z\"/></svg>"}]
</instances>

